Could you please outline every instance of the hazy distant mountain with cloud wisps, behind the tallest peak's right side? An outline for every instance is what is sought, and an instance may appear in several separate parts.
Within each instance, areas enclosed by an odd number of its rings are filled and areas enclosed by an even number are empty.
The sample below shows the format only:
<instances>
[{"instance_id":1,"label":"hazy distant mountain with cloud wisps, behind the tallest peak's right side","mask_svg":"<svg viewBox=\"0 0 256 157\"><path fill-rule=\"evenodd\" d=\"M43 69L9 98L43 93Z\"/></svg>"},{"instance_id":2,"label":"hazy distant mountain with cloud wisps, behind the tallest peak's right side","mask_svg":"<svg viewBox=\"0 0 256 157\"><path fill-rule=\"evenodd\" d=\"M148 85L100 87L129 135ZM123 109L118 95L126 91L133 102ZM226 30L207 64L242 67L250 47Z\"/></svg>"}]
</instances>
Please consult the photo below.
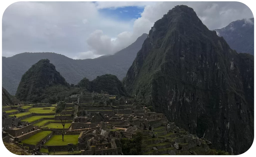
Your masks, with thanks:
<instances>
[{"instance_id":1,"label":"hazy distant mountain with cloud wisps, behind the tallest peak's right side","mask_svg":"<svg viewBox=\"0 0 256 157\"><path fill-rule=\"evenodd\" d=\"M254 55L254 18L236 20L215 31L227 41L231 49Z\"/></svg>"}]
</instances>

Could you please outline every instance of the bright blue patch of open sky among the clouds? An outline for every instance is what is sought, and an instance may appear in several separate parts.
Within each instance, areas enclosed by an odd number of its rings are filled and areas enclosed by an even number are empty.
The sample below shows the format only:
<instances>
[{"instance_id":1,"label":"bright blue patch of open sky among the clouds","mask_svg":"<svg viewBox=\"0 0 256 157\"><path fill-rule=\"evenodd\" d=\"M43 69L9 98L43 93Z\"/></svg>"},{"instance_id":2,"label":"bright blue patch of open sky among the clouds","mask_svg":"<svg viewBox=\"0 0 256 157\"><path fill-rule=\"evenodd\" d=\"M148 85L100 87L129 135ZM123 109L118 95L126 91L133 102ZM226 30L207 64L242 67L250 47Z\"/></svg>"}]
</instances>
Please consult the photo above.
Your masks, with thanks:
<instances>
[{"instance_id":1,"label":"bright blue patch of open sky among the clouds","mask_svg":"<svg viewBox=\"0 0 256 157\"><path fill-rule=\"evenodd\" d=\"M122 8L108 8L108 9L100 9L99 12L111 18L115 18L118 20L128 21L134 18L141 17L140 13L142 13L144 8L141 7L122 7Z\"/></svg>"}]
</instances>

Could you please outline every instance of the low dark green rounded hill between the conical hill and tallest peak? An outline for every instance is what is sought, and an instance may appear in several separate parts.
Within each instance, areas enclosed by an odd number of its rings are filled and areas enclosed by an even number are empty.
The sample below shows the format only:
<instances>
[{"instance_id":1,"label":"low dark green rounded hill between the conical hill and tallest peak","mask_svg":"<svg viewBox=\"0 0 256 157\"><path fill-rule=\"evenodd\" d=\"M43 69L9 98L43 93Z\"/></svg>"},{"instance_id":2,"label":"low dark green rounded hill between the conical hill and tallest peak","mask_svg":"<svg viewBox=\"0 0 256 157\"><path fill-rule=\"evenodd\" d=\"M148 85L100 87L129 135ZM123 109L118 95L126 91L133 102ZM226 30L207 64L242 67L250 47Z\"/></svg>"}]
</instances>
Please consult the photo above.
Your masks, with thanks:
<instances>
[{"instance_id":1,"label":"low dark green rounded hill between the conical hill and tallest peak","mask_svg":"<svg viewBox=\"0 0 256 157\"><path fill-rule=\"evenodd\" d=\"M101 93L101 91L106 91L110 95L127 96L127 92L122 82L115 75L111 74L97 76L92 81L83 78L78 82L77 86L91 92L95 91Z\"/></svg>"}]
</instances>

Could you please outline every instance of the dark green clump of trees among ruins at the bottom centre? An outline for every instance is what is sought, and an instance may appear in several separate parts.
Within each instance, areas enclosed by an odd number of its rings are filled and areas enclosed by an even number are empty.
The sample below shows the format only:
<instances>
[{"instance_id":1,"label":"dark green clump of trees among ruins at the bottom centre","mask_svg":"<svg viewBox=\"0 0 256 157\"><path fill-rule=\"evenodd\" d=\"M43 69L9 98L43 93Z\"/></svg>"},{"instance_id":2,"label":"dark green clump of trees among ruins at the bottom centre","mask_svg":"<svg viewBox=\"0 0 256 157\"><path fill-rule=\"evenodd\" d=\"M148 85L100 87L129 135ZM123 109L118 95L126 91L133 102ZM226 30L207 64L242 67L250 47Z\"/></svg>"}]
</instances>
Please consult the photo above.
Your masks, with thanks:
<instances>
[{"instance_id":1,"label":"dark green clump of trees among ruins at the bottom centre","mask_svg":"<svg viewBox=\"0 0 256 157\"><path fill-rule=\"evenodd\" d=\"M143 135L136 132L132 139L121 139L122 152L124 155L141 155Z\"/></svg>"}]
</instances>

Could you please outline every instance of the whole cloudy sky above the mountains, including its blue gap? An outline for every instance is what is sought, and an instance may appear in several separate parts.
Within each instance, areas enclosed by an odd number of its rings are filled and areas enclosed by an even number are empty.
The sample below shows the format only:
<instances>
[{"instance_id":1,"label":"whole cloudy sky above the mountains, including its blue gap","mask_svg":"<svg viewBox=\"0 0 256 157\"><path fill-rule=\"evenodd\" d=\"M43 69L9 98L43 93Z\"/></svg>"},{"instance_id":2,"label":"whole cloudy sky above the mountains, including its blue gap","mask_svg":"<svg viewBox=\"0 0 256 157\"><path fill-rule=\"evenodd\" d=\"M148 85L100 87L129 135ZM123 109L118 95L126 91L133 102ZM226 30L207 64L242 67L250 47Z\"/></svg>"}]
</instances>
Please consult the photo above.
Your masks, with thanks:
<instances>
[{"instance_id":1,"label":"whole cloudy sky above the mountains, including its blue gap","mask_svg":"<svg viewBox=\"0 0 256 157\"><path fill-rule=\"evenodd\" d=\"M192 7L211 30L254 17L247 5L234 1L15 2L2 17L2 56L55 52L86 59L113 54L180 4Z\"/></svg>"}]
</instances>

